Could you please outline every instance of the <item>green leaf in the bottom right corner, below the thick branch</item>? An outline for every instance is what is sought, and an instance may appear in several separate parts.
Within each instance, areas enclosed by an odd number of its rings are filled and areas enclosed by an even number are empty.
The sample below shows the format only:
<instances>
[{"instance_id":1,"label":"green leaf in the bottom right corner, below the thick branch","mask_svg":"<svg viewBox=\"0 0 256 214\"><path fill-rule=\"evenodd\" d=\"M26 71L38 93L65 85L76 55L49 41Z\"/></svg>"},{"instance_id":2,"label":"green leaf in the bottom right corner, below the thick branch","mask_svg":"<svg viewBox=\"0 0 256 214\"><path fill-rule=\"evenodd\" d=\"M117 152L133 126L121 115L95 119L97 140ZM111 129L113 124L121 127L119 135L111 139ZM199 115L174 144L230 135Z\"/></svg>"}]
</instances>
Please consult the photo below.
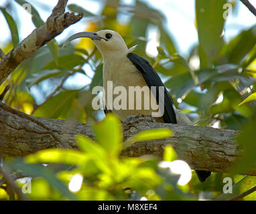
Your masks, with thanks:
<instances>
[{"instance_id":1,"label":"green leaf in the bottom right corner, below the thick branch","mask_svg":"<svg viewBox=\"0 0 256 214\"><path fill-rule=\"evenodd\" d=\"M229 201L235 199L241 199L243 196L246 196L250 193L250 190L255 189L256 187L256 177L254 176L245 176L239 182L232 186L233 193L222 193L215 201Z\"/></svg>"}]
</instances>

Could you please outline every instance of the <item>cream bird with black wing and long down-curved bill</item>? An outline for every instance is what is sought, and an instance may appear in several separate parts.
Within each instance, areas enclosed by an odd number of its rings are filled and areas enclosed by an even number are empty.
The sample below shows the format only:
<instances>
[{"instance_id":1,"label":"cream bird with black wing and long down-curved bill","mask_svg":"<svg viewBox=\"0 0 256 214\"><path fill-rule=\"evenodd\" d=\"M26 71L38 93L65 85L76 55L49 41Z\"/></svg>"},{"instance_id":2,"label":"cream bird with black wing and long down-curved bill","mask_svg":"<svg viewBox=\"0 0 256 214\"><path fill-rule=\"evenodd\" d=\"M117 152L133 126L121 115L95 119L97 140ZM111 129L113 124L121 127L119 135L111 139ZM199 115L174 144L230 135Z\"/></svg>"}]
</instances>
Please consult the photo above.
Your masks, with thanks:
<instances>
[{"instance_id":1,"label":"cream bird with black wing and long down-curved bill","mask_svg":"<svg viewBox=\"0 0 256 214\"><path fill-rule=\"evenodd\" d=\"M103 29L96 33L75 33L66 39L63 47L73 39L80 37L88 37L92 39L103 56L103 88L105 92L107 92L109 81L113 83L113 87L122 86L127 91L129 91L129 87L131 86L140 86L141 88L144 87L149 89L145 90L146 92L143 96L141 95L141 109L135 108L137 100L133 100L134 103L131 104L133 108L118 110L115 108L111 109L111 111L114 114L117 114L122 121L125 120L127 116L131 115L152 115L153 109L151 107L147 109L143 108L145 107L145 101L149 102L148 99L151 99L152 102L158 102L159 107L160 104L163 104L164 112L159 111L159 115L154 117L156 122L192 125L188 116L175 107L170 93L149 62L133 53L136 45L128 48L123 37L117 31ZM151 89L152 87L155 87L155 91ZM161 91L161 88L164 90ZM117 94L113 95L113 98L116 98L117 96ZM107 99L105 100L107 107L105 112L108 112L109 106L113 106L113 103L109 103ZM131 102L129 96L126 101L127 103ZM113 102L113 100L110 102ZM196 170L196 175L202 183L206 181L210 174L211 172L209 171Z\"/></svg>"}]
</instances>

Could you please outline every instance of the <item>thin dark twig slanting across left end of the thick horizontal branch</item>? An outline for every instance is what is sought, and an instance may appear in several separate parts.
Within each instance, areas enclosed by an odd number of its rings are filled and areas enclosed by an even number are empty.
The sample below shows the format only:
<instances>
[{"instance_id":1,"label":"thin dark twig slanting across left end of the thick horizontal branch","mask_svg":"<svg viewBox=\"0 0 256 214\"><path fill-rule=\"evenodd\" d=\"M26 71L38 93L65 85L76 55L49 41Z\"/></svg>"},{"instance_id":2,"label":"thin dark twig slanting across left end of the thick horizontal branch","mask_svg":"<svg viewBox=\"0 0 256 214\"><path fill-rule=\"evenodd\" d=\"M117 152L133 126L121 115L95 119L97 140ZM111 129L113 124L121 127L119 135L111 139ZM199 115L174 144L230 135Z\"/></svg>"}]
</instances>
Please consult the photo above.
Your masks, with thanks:
<instances>
[{"instance_id":1,"label":"thin dark twig slanting across left end of the thick horizontal branch","mask_svg":"<svg viewBox=\"0 0 256 214\"><path fill-rule=\"evenodd\" d=\"M38 126L41 126L42 128L46 129L48 131L48 133L50 135L52 135L52 137L60 143L60 146L62 146L63 148L68 147L66 143L62 142L62 140L60 140L60 138L58 138L58 136L56 136L56 134L52 130L50 130L50 128L48 128L45 124L43 124L39 120L36 120L35 118L32 118L31 116L29 116L23 112L19 112L18 110L10 108L9 106L6 106L5 104L3 104L3 102L0 102L0 108L2 108L3 110L5 110L7 112L11 112L12 114L21 116L22 118L30 120L31 122L34 122L35 124L38 124Z\"/></svg>"}]
</instances>

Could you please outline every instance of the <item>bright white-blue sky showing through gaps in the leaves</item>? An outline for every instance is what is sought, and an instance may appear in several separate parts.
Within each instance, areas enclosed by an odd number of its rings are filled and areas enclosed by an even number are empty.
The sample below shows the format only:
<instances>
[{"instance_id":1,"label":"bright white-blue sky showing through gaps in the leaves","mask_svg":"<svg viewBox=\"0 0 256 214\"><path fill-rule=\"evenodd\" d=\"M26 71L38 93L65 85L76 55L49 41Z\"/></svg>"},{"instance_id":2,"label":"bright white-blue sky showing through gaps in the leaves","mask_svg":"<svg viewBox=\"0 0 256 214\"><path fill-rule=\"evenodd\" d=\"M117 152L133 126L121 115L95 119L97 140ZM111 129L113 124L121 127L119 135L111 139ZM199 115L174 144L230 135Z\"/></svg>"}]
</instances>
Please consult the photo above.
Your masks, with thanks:
<instances>
[{"instance_id":1,"label":"bright white-blue sky showing through gaps in the leaves","mask_svg":"<svg viewBox=\"0 0 256 214\"><path fill-rule=\"evenodd\" d=\"M14 0L0 0L0 7L3 7L7 2L10 1ZM97 14L99 11L101 11L101 1L104 0L69 0L68 4L76 3L88 11ZM159 11L161 11L166 16L166 29L172 33L174 41L178 47L178 53L186 58L190 52L190 49L196 45L196 43L198 43L198 35L195 27L195 1L157 0L157 3L155 3L155 0L142 1L148 5L151 5L153 8L159 9ZM34 3L34 6L38 9L42 19L46 20L58 0L34 0L29 2ZM250 0L250 2L256 6L256 0ZM133 5L135 0L123 0L122 3ZM17 5L17 3L15 3L15 5ZM225 10L223 9L223 11ZM35 28L31 22L31 15L19 5L13 9L12 15L15 16L15 14L18 14L18 17L22 17L22 19L16 20L18 21L20 39L24 39ZM121 15L119 18L125 19L125 15ZM72 33L82 31L82 29L86 27L88 20L88 18L84 18L82 21L79 21L78 23L68 27L68 29L65 29L63 33L56 37L56 40L61 43L70 35L72 35ZM238 1L237 8L233 9L231 14L229 14L227 17L224 39L229 41L239 32L248 29L255 24L255 16L247 9L247 7L245 7L245 5ZM9 27L7 26L2 13L0 13L0 29L0 47L2 47L11 37ZM147 39L150 39L151 42L149 43L150 47L146 49L146 53L152 55L156 51L157 32L150 31L148 34L149 35ZM86 69L86 72L88 71L90 76L93 76L94 72L90 70L89 66L84 69ZM88 82L90 82L89 78L86 78L86 76L82 74L76 74L75 76L70 77L66 84L80 88L81 86L84 86L84 84L88 84ZM46 86L46 88L48 88L48 86ZM36 97L40 100L40 96Z\"/></svg>"}]
</instances>

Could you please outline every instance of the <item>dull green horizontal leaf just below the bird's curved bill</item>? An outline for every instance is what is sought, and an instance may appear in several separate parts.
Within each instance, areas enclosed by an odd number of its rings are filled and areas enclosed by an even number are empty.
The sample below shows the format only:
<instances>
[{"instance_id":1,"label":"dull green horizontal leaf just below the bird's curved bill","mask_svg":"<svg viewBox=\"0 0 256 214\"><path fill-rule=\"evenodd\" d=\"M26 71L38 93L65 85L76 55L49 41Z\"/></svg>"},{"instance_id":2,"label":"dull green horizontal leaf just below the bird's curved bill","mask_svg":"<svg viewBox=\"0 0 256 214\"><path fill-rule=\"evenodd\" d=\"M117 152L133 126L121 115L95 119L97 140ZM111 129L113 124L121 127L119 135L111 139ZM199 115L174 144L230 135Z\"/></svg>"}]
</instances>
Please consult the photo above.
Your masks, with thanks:
<instances>
[{"instance_id":1,"label":"dull green horizontal leaf just below the bird's curved bill","mask_svg":"<svg viewBox=\"0 0 256 214\"><path fill-rule=\"evenodd\" d=\"M61 56L58 59L58 64L56 64L56 60L53 60L49 64L47 64L43 70L53 70L57 68L67 68L72 69L78 65L84 64L86 60L80 55L77 54L68 54Z\"/></svg>"}]
</instances>

